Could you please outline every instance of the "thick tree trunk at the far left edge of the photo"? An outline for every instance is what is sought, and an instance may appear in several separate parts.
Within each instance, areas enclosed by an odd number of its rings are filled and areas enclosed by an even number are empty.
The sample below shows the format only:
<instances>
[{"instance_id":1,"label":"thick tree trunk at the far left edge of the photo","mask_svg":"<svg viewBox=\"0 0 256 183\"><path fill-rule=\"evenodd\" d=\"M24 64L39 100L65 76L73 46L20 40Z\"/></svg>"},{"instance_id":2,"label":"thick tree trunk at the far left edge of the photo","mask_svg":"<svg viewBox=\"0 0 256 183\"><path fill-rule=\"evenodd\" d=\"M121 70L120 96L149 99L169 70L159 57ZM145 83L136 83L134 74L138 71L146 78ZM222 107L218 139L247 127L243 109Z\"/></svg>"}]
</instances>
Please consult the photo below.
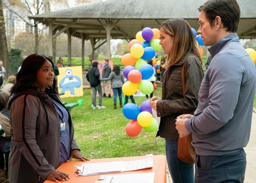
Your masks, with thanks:
<instances>
[{"instance_id":1,"label":"thick tree trunk at the far left edge of the photo","mask_svg":"<svg viewBox=\"0 0 256 183\"><path fill-rule=\"evenodd\" d=\"M10 65L9 65L9 56L7 49L7 40L5 35L5 22L4 22L4 12L2 0L0 0L0 60L3 61L3 66L5 67L5 80L12 75Z\"/></svg>"}]
</instances>

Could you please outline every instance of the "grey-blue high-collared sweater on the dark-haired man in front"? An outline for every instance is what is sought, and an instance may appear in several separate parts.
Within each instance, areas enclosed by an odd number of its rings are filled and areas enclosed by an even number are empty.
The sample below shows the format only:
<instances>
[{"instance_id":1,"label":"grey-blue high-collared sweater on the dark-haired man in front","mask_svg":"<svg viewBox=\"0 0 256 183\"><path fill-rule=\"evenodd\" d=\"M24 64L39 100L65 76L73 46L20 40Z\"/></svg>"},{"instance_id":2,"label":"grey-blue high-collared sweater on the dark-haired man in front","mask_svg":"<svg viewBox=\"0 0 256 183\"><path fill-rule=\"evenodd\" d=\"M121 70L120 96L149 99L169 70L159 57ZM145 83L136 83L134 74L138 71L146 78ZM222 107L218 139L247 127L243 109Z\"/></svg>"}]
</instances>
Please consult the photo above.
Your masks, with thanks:
<instances>
[{"instance_id":1,"label":"grey-blue high-collared sweater on the dark-haired man in front","mask_svg":"<svg viewBox=\"0 0 256 183\"><path fill-rule=\"evenodd\" d=\"M225 155L249 141L256 83L255 65L236 33L209 48L213 59L199 90L195 116L186 120L198 155Z\"/></svg>"}]
</instances>

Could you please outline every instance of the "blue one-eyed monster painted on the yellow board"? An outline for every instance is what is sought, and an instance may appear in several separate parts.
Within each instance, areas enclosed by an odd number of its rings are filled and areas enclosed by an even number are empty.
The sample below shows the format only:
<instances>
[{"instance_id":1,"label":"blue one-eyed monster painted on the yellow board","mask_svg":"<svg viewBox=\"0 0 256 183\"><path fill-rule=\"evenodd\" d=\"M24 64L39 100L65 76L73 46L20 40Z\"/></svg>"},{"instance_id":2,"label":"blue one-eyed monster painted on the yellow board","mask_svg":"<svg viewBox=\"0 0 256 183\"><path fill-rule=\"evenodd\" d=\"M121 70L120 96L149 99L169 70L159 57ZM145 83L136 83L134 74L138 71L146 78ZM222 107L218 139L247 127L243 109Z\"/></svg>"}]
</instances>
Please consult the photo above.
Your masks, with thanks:
<instances>
[{"instance_id":1,"label":"blue one-eyed monster painted on the yellow board","mask_svg":"<svg viewBox=\"0 0 256 183\"><path fill-rule=\"evenodd\" d=\"M80 88L81 79L78 76L72 75L72 70L66 70L66 77L63 77L59 82L59 87L62 89L60 93L64 93L66 91L70 91L72 95L75 95L74 88Z\"/></svg>"}]
</instances>

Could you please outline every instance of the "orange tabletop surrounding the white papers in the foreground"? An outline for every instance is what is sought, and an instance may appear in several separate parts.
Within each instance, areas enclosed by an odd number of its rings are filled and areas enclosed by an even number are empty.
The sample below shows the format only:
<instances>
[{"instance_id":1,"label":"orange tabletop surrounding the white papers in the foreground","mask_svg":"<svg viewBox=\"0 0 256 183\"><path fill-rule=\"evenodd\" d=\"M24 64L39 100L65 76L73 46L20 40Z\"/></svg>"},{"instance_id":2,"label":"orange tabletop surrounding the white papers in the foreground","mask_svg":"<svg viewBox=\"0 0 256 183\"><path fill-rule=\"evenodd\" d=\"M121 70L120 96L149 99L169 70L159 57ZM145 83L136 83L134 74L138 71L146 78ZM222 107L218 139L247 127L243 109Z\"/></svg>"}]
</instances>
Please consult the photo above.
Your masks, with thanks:
<instances>
[{"instance_id":1,"label":"orange tabletop surrounding the white papers in the foreground","mask_svg":"<svg viewBox=\"0 0 256 183\"><path fill-rule=\"evenodd\" d=\"M114 161L132 161L132 160L145 159L145 158L149 158L149 157L153 157L153 167L152 168L136 170L136 171L129 171L129 172L109 173L109 174L131 174L131 173L155 172L154 183L166 183L166 157L164 155L92 159L87 162L88 163L99 163L99 162L114 162ZM71 161L71 162L62 164L57 170L69 174L71 179L69 179L67 183L94 183L94 181L96 181L100 177L100 174L76 177L76 174L75 174L76 168L74 167L74 165L81 166L84 163L86 163L86 162L79 161L79 160ZM61 182L61 181L59 181L59 182ZM45 183L53 183L53 181L46 180Z\"/></svg>"}]
</instances>

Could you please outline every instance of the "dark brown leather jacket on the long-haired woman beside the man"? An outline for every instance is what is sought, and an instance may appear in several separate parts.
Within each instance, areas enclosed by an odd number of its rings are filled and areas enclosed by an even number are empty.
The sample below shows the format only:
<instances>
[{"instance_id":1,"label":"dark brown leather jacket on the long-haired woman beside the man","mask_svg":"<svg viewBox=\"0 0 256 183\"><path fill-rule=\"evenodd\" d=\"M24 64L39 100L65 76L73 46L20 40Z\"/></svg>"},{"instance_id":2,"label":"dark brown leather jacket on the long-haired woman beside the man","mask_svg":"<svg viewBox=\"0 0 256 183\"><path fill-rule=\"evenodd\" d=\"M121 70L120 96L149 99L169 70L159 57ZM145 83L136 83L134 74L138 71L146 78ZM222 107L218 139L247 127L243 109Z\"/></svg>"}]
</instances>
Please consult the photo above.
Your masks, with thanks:
<instances>
[{"instance_id":1,"label":"dark brown leather jacket on the long-haired woman beside the man","mask_svg":"<svg viewBox=\"0 0 256 183\"><path fill-rule=\"evenodd\" d=\"M183 98L181 82L183 64L186 99ZM175 119L177 116L190 113L197 108L202 78L202 65L197 57L192 55L165 70L162 78L162 100L159 100L156 106L158 117L161 117L157 136L160 135L165 139L178 139Z\"/></svg>"}]
</instances>

